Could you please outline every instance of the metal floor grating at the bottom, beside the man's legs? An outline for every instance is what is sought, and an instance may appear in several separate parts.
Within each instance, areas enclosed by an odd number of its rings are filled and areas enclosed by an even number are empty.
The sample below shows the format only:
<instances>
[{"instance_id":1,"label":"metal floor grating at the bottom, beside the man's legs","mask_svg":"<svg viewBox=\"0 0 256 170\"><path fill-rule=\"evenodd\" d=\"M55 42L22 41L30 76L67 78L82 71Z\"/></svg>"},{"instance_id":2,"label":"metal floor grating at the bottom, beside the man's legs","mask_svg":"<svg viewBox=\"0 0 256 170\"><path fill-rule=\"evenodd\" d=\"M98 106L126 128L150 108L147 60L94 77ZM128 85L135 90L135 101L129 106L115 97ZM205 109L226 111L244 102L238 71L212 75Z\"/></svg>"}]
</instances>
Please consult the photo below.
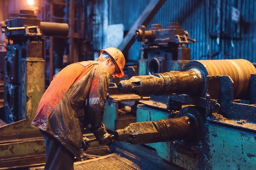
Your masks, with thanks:
<instances>
[{"instance_id":1,"label":"metal floor grating at the bottom, beside the man's legs","mask_svg":"<svg viewBox=\"0 0 256 170\"><path fill-rule=\"evenodd\" d=\"M44 170L44 166L29 168L29 170ZM112 153L99 158L88 159L74 163L74 170L141 170L132 161Z\"/></svg>"}]
</instances>

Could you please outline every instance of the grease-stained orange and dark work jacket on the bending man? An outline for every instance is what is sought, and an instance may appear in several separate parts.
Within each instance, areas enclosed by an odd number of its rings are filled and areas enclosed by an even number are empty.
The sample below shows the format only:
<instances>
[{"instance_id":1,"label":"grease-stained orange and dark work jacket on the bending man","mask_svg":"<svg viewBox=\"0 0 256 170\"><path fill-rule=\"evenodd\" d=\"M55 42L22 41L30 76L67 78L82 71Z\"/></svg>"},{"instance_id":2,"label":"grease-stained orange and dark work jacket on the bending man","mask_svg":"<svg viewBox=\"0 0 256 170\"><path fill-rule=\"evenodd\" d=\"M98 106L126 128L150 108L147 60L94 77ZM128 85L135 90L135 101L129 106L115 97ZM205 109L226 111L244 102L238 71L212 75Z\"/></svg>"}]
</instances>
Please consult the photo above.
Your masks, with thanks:
<instances>
[{"instance_id":1,"label":"grease-stained orange and dark work jacket on the bending man","mask_svg":"<svg viewBox=\"0 0 256 170\"><path fill-rule=\"evenodd\" d=\"M31 122L53 135L81 161L82 132L106 130L101 123L110 75L97 61L73 63L54 76ZM99 131L99 130L97 130Z\"/></svg>"}]
</instances>

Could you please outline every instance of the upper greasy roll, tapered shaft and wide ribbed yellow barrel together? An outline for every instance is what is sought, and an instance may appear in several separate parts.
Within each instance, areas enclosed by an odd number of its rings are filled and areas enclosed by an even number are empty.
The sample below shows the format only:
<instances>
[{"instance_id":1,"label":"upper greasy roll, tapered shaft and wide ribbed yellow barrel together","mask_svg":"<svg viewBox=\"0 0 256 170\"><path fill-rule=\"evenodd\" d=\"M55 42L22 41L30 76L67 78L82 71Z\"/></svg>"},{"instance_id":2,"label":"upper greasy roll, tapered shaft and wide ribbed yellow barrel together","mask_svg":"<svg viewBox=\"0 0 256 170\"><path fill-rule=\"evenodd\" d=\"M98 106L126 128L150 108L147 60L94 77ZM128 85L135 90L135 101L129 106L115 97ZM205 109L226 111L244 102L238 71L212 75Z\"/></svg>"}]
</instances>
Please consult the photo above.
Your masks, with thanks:
<instances>
[{"instance_id":1,"label":"upper greasy roll, tapered shaft and wide ribbed yellow barrel together","mask_svg":"<svg viewBox=\"0 0 256 170\"><path fill-rule=\"evenodd\" d=\"M249 96L251 74L256 73L254 65L244 59L234 60L192 60L182 71L170 71L153 75L133 76L117 84L123 93L137 95L171 95L173 93L204 96L208 75L230 76L234 81L234 97Z\"/></svg>"}]
</instances>

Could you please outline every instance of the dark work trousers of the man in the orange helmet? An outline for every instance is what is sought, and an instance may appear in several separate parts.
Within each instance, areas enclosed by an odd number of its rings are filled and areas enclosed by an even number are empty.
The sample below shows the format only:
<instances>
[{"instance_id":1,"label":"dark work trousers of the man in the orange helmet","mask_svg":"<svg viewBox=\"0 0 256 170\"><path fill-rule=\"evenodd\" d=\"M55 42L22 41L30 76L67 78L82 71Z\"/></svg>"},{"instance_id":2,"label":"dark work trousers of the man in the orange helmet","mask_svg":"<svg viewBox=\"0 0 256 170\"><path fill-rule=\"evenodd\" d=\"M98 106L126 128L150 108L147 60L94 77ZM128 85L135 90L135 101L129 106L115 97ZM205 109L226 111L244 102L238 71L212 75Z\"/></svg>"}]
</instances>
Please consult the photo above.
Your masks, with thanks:
<instances>
[{"instance_id":1,"label":"dark work trousers of the man in the orange helmet","mask_svg":"<svg viewBox=\"0 0 256 170\"><path fill-rule=\"evenodd\" d=\"M45 140L45 170L74 170L74 155L55 137L40 130Z\"/></svg>"}]
</instances>

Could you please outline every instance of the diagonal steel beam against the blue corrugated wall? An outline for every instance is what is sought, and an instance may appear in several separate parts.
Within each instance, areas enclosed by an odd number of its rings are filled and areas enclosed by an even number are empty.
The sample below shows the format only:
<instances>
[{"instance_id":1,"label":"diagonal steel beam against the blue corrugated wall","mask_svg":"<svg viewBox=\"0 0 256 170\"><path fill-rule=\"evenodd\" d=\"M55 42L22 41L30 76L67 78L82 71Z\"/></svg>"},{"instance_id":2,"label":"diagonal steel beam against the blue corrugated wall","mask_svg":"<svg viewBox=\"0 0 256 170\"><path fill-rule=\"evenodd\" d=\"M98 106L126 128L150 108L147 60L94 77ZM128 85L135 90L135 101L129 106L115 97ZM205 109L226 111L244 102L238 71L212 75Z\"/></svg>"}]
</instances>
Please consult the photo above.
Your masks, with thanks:
<instances>
[{"instance_id":1,"label":"diagonal steel beam against the blue corrugated wall","mask_svg":"<svg viewBox=\"0 0 256 170\"><path fill-rule=\"evenodd\" d=\"M144 9L144 11L141 13L139 18L136 20L136 22L133 24L127 35L124 37L124 40L121 42L121 44L118 46L118 49L126 53L128 49L132 46L132 44L135 42L134 33L141 25L147 25L152 18L155 16L157 11L162 7L166 0L151 0L148 4L148 6Z\"/></svg>"}]
</instances>

